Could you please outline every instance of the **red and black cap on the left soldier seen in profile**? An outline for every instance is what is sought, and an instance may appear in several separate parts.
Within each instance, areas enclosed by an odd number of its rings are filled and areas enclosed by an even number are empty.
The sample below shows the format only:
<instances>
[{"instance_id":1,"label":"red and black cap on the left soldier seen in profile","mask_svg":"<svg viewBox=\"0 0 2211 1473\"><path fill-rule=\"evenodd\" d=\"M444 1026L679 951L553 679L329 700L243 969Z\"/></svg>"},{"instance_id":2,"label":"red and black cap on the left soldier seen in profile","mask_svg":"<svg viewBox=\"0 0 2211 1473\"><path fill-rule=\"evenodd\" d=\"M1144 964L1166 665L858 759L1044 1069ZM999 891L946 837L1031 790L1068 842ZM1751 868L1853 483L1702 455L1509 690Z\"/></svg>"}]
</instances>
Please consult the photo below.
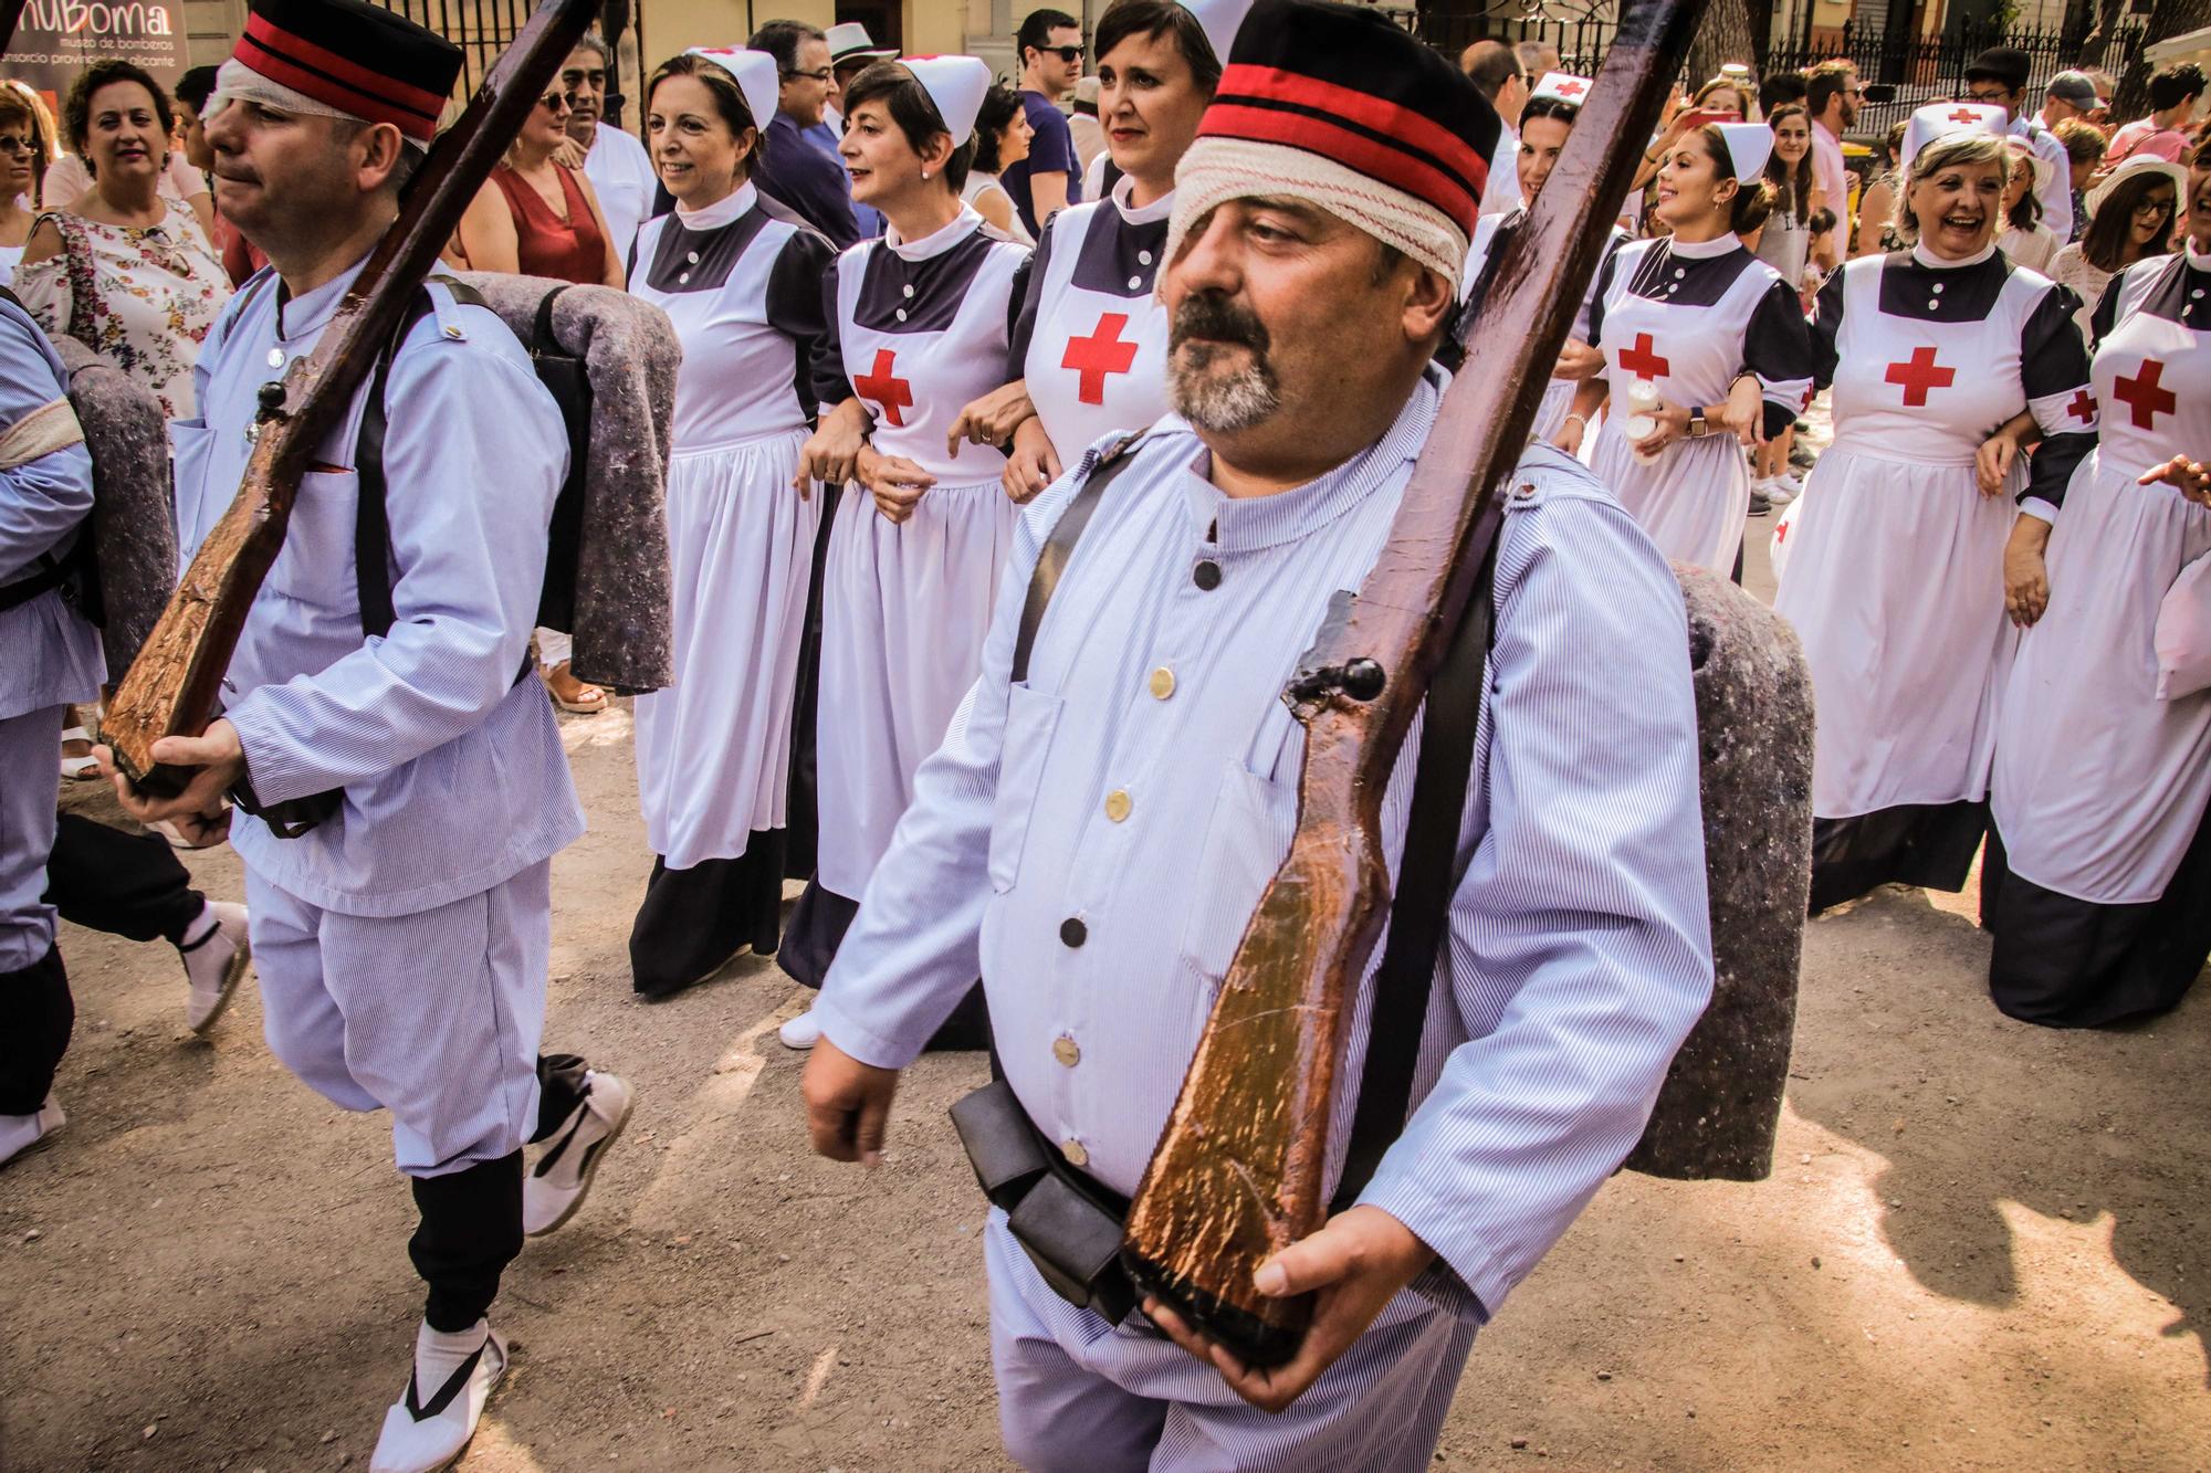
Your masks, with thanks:
<instances>
[{"instance_id":1,"label":"red and black cap on the left soldier seen in profile","mask_svg":"<svg viewBox=\"0 0 2211 1473\"><path fill-rule=\"evenodd\" d=\"M460 75L460 46L367 0L256 0L232 60L422 144Z\"/></svg>"}]
</instances>

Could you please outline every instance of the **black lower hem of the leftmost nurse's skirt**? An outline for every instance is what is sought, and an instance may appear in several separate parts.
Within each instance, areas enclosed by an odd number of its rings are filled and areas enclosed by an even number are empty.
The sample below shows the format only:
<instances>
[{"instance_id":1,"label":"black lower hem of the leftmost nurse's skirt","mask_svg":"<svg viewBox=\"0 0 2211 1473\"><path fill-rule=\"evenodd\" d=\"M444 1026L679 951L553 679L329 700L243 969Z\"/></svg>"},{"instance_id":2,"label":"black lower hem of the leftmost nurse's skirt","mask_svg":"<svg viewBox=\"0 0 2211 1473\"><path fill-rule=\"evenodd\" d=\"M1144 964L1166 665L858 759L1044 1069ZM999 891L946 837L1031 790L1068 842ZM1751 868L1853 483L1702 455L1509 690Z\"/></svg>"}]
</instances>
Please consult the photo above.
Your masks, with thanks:
<instances>
[{"instance_id":1,"label":"black lower hem of the leftmost nurse's skirt","mask_svg":"<svg viewBox=\"0 0 2211 1473\"><path fill-rule=\"evenodd\" d=\"M747 947L772 955L783 920L783 829L754 829L734 860L670 869L652 858L646 902L630 924L630 978L646 997L672 997Z\"/></svg>"}]
</instances>

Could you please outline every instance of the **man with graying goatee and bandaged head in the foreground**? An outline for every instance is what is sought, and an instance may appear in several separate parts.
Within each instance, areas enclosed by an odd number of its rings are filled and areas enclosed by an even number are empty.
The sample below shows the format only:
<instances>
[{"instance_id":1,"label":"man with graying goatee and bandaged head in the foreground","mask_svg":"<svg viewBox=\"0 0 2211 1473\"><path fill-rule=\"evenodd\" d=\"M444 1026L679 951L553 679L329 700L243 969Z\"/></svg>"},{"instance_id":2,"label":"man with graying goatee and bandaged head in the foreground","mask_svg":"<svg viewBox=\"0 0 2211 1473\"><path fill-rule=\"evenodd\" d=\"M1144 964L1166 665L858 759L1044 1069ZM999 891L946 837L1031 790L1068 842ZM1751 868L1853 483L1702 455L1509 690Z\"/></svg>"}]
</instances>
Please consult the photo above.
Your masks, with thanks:
<instances>
[{"instance_id":1,"label":"man with graying goatee and bandaged head in the foreground","mask_svg":"<svg viewBox=\"0 0 2211 1473\"><path fill-rule=\"evenodd\" d=\"M860 902L805 1075L816 1148L880 1159L898 1070L979 973L1017 1128L1108 1223L1287 854L1302 728L1280 692L1435 422L1431 354L1499 128L1364 9L1260 0L1227 60L1165 241L1174 414L1028 506L982 679ZM1061 518L1101 464L1070 546ZM1046 540L1061 573L1024 639ZM1044 1239L993 1210L1019 1464L1428 1466L1475 1329L1634 1146L1709 995L1685 639L1634 520L1530 449L1468 801L1406 852L1422 717L1382 805L1393 876L1457 878L1426 1026L1369 1037L1362 980L1335 1119L1382 1059L1417 1104L1355 1205L1258 1272L1262 1294L1318 1292L1311 1334L1260 1371L1165 1309L1117 1323L1077 1305L1112 1309L1108 1274L1050 1287ZM1338 1132L1331 1183L1342 1159Z\"/></svg>"}]
</instances>

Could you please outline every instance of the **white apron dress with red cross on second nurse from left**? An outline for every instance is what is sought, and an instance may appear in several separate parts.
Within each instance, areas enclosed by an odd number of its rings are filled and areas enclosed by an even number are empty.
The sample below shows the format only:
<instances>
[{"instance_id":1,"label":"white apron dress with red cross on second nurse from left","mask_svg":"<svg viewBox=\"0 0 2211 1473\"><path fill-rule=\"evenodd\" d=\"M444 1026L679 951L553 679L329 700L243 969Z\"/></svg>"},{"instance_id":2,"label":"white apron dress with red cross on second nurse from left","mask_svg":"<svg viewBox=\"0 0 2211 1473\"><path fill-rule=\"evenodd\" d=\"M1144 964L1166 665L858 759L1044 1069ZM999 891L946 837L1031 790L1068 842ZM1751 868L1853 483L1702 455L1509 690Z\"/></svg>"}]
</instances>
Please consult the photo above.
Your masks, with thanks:
<instances>
[{"instance_id":1,"label":"white apron dress with red cross on second nurse from left","mask_svg":"<svg viewBox=\"0 0 2211 1473\"><path fill-rule=\"evenodd\" d=\"M944 431L1006 380L1015 270L1028 252L962 208L920 241L887 232L836 259L836 312L816 385L822 405L858 396L873 445L935 476L907 522L847 487L822 575L818 882L858 900L975 683L1015 504L1006 458Z\"/></svg>"}]
</instances>

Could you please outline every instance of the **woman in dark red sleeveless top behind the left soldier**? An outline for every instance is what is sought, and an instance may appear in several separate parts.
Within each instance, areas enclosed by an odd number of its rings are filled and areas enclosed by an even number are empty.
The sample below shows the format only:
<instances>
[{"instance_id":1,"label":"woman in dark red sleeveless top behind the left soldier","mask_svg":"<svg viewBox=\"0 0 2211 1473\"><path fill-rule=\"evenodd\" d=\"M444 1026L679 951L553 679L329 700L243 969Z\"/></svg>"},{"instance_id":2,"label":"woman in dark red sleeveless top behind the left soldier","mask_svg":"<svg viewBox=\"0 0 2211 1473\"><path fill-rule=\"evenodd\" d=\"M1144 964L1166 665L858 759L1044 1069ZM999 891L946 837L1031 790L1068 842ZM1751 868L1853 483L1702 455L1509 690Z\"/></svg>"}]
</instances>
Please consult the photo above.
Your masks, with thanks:
<instances>
[{"instance_id":1,"label":"woman in dark red sleeveless top behind the left soldier","mask_svg":"<svg viewBox=\"0 0 2211 1473\"><path fill-rule=\"evenodd\" d=\"M537 100L506 159L460 217L460 265L478 272L520 272L581 285L619 288L624 263L599 212L599 195L581 170L553 155L568 142L568 93L555 82ZM579 681L568 668L575 639L562 630L537 630L537 664L544 668L553 703L579 717L608 708L599 686Z\"/></svg>"}]
</instances>

